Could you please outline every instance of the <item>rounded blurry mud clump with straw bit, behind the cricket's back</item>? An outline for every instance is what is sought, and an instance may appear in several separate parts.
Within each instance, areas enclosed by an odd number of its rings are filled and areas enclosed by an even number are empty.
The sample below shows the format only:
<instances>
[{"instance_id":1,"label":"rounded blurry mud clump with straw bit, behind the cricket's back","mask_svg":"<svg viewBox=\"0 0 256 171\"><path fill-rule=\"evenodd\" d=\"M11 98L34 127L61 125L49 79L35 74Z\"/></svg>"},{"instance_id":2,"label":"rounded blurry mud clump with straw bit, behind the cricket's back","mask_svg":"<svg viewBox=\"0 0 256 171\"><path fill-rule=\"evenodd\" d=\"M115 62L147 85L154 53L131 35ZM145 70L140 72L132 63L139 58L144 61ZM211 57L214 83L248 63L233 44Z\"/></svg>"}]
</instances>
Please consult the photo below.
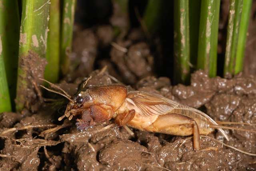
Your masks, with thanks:
<instances>
[{"instance_id":1,"label":"rounded blurry mud clump with straw bit, behind the cricket's back","mask_svg":"<svg viewBox=\"0 0 256 171\"><path fill-rule=\"evenodd\" d=\"M154 58L145 42L131 45L130 41L114 43L110 52L111 60L128 84L153 75Z\"/></svg>"}]
</instances>

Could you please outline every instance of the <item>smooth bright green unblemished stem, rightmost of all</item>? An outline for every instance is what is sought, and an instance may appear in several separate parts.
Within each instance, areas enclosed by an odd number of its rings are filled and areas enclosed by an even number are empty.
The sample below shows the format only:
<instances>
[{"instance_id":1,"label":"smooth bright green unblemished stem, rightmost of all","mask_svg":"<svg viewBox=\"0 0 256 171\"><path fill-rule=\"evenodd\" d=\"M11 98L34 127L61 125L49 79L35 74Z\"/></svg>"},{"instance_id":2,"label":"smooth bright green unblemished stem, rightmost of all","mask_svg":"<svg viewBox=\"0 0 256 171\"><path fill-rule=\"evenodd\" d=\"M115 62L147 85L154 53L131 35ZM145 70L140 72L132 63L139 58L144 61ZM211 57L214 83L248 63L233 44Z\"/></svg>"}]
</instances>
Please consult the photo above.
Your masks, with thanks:
<instances>
[{"instance_id":1,"label":"smooth bright green unblemished stem, rightmost of all","mask_svg":"<svg viewBox=\"0 0 256 171\"><path fill-rule=\"evenodd\" d=\"M250 11L252 7L252 0L244 0L243 9L240 22L240 30L238 34L238 44L236 51L236 66L234 74L238 74L243 69L244 64L244 49L246 44L247 30L250 19Z\"/></svg>"}]
</instances>

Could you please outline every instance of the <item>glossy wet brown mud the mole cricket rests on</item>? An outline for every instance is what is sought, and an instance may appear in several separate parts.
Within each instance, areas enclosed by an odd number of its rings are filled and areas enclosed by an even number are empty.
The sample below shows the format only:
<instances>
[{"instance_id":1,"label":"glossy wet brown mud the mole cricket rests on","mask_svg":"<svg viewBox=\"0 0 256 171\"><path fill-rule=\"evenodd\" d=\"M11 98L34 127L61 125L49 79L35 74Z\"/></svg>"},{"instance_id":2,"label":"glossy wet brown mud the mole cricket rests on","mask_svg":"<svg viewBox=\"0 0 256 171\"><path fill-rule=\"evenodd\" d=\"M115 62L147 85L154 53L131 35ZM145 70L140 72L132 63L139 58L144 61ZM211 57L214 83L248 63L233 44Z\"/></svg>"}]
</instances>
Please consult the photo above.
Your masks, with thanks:
<instances>
[{"instance_id":1,"label":"glossy wet brown mud the mole cricket rests on","mask_svg":"<svg viewBox=\"0 0 256 171\"><path fill-rule=\"evenodd\" d=\"M114 84L107 69L90 73L90 85ZM80 78L74 83L59 85L68 93L77 91ZM120 84L120 82L119 82ZM133 87L140 91L164 95L180 103L205 111L217 121L256 123L256 82L254 77L237 76L227 80L208 78L197 71L191 85L172 86L168 78L148 76ZM211 138L224 141L238 149L256 153L256 135L244 131L226 131L226 141L218 131L201 137L200 151L194 151L192 137L178 137L132 129L112 121L78 131L75 121L58 121L64 109L45 103L37 113L0 115L0 170L72 170L72 171L164 171L169 170L255 170L256 157L222 146ZM111 125L112 124L112 125ZM12 130L24 128L22 130ZM109 127L106 127L111 125ZM252 126L239 125L246 129ZM6 132L9 130L9 132ZM4 132L4 134L3 134Z\"/></svg>"}]
</instances>

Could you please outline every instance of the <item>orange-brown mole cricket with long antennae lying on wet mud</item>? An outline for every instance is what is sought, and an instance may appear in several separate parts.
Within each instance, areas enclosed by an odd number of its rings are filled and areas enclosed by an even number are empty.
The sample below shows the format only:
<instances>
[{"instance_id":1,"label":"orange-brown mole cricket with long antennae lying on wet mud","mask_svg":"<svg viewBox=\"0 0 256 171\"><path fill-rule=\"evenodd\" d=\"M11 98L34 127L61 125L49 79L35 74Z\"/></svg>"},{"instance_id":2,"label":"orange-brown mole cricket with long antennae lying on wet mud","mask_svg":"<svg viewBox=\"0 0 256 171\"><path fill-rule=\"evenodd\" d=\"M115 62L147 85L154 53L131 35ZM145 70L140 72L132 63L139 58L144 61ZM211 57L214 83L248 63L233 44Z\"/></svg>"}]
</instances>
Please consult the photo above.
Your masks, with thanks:
<instances>
[{"instance_id":1,"label":"orange-brown mole cricket with long antennae lying on wet mud","mask_svg":"<svg viewBox=\"0 0 256 171\"><path fill-rule=\"evenodd\" d=\"M222 128L256 132L218 125L202 111L155 93L127 91L125 86L118 84L90 86L84 89L88 80L84 82L83 89L74 96L68 95L66 91L50 82L50 86L62 93L40 85L69 100L66 111L59 117L59 121L64 117L69 120L76 117L77 129L83 130L95 123L103 123L113 118L119 126L128 125L142 131L179 136L193 135L195 151L200 150L200 135L208 135L214 129L218 129L227 140L228 135Z\"/></svg>"}]
</instances>

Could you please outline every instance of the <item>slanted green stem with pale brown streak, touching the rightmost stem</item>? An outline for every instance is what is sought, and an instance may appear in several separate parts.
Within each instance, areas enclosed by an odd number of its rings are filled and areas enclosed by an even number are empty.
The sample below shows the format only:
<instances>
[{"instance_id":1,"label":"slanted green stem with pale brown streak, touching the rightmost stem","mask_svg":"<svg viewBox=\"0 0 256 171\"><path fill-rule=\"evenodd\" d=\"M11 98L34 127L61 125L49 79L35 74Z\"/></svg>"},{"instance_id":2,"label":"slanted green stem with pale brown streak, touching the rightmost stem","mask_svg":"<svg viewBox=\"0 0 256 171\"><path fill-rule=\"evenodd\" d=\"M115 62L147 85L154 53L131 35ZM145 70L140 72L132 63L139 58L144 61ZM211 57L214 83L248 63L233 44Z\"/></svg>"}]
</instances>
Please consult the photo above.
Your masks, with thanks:
<instances>
[{"instance_id":1,"label":"slanted green stem with pale brown streak, touching the rightmost stem","mask_svg":"<svg viewBox=\"0 0 256 171\"><path fill-rule=\"evenodd\" d=\"M230 1L224 76L234 73L242 6L243 0Z\"/></svg>"}]
</instances>

